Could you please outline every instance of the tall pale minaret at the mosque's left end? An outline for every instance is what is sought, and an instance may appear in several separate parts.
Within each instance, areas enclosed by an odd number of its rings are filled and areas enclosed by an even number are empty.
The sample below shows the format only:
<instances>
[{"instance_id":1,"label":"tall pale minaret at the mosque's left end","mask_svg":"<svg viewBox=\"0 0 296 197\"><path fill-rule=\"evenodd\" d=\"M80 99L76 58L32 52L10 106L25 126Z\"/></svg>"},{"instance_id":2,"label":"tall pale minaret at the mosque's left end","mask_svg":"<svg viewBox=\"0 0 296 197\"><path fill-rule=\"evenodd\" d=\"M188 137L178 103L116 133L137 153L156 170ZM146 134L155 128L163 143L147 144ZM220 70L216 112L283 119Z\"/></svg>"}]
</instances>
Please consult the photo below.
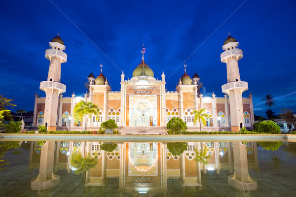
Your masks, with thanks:
<instances>
[{"instance_id":1,"label":"tall pale minaret at the mosque's left end","mask_svg":"<svg viewBox=\"0 0 296 197\"><path fill-rule=\"evenodd\" d=\"M63 52L65 45L60 36L49 42L50 49L45 50L45 58L50 61L47 81L40 82L40 90L46 94L44 108L44 125L48 131L56 131L58 99L66 92L66 85L61 82L61 64L67 62L67 54Z\"/></svg>"}]
</instances>

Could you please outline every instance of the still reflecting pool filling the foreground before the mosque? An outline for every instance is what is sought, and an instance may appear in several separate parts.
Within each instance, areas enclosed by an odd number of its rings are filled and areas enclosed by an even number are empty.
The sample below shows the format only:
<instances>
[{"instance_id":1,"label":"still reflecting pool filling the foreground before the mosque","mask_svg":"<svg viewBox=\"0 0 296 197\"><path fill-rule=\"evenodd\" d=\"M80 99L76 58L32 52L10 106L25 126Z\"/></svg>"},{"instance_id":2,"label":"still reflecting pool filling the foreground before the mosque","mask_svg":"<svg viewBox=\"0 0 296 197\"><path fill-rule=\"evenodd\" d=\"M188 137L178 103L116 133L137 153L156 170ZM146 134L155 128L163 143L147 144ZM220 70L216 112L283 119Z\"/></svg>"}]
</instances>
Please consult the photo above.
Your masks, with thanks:
<instances>
[{"instance_id":1,"label":"still reflecting pool filling the foreground before the mosque","mask_svg":"<svg viewBox=\"0 0 296 197\"><path fill-rule=\"evenodd\" d=\"M1 197L295 197L294 142L0 142Z\"/></svg>"}]
</instances>

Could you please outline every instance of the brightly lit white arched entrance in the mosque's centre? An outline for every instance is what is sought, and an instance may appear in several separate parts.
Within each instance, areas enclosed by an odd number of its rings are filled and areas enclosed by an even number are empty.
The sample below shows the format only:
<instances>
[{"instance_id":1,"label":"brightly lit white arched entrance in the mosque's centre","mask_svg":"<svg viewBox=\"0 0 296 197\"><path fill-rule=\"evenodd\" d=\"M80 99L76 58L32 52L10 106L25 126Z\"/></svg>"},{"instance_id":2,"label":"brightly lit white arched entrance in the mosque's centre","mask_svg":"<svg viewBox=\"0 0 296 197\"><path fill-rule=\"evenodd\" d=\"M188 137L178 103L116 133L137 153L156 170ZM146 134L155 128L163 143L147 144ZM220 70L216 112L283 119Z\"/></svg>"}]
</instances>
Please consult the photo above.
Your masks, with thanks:
<instances>
[{"instance_id":1,"label":"brightly lit white arched entrance in the mosque's centre","mask_svg":"<svg viewBox=\"0 0 296 197\"><path fill-rule=\"evenodd\" d=\"M156 126L157 109L148 100L139 100L131 108L129 113L129 125L134 127Z\"/></svg>"}]
</instances>

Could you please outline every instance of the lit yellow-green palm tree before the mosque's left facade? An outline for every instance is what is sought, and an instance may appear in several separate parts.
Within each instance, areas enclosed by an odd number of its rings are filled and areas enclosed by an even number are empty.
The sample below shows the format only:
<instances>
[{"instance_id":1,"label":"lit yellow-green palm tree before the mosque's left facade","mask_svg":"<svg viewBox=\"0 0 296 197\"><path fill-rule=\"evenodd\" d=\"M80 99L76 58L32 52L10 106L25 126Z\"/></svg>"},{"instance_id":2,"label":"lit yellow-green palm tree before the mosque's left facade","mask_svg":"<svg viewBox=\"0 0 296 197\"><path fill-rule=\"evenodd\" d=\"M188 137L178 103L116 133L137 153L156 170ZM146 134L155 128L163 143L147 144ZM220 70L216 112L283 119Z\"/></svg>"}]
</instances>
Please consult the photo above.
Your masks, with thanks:
<instances>
[{"instance_id":1,"label":"lit yellow-green palm tree before the mosque's left facade","mask_svg":"<svg viewBox=\"0 0 296 197\"><path fill-rule=\"evenodd\" d=\"M82 121L83 116L85 117L85 131L87 123L87 115L91 118L91 115L97 115L99 113L99 107L91 101L85 102L80 100L74 107L74 119L75 122Z\"/></svg>"}]
</instances>

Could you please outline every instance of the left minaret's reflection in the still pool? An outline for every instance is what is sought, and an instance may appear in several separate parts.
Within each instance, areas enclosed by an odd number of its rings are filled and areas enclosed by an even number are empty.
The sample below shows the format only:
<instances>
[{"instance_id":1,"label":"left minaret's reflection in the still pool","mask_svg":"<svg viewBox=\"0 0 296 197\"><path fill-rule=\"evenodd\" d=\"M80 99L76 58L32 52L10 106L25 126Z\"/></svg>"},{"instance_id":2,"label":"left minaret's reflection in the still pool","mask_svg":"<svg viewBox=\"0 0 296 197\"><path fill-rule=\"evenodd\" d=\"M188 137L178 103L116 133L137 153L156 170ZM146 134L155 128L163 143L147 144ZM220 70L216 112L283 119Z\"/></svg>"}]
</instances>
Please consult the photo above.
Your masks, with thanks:
<instances>
[{"instance_id":1,"label":"left minaret's reflection in the still pool","mask_svg":"<svg viewBox=\"0 0 296 197\"><path fill-rule=\"evenodd\" d=\"M52 188L59 184L60 176L53 173L55 142L47 141L41 146L39 175L31 181L31 189L39 191L39 194L44 190Z\"/></svg>"}]
</instances>

